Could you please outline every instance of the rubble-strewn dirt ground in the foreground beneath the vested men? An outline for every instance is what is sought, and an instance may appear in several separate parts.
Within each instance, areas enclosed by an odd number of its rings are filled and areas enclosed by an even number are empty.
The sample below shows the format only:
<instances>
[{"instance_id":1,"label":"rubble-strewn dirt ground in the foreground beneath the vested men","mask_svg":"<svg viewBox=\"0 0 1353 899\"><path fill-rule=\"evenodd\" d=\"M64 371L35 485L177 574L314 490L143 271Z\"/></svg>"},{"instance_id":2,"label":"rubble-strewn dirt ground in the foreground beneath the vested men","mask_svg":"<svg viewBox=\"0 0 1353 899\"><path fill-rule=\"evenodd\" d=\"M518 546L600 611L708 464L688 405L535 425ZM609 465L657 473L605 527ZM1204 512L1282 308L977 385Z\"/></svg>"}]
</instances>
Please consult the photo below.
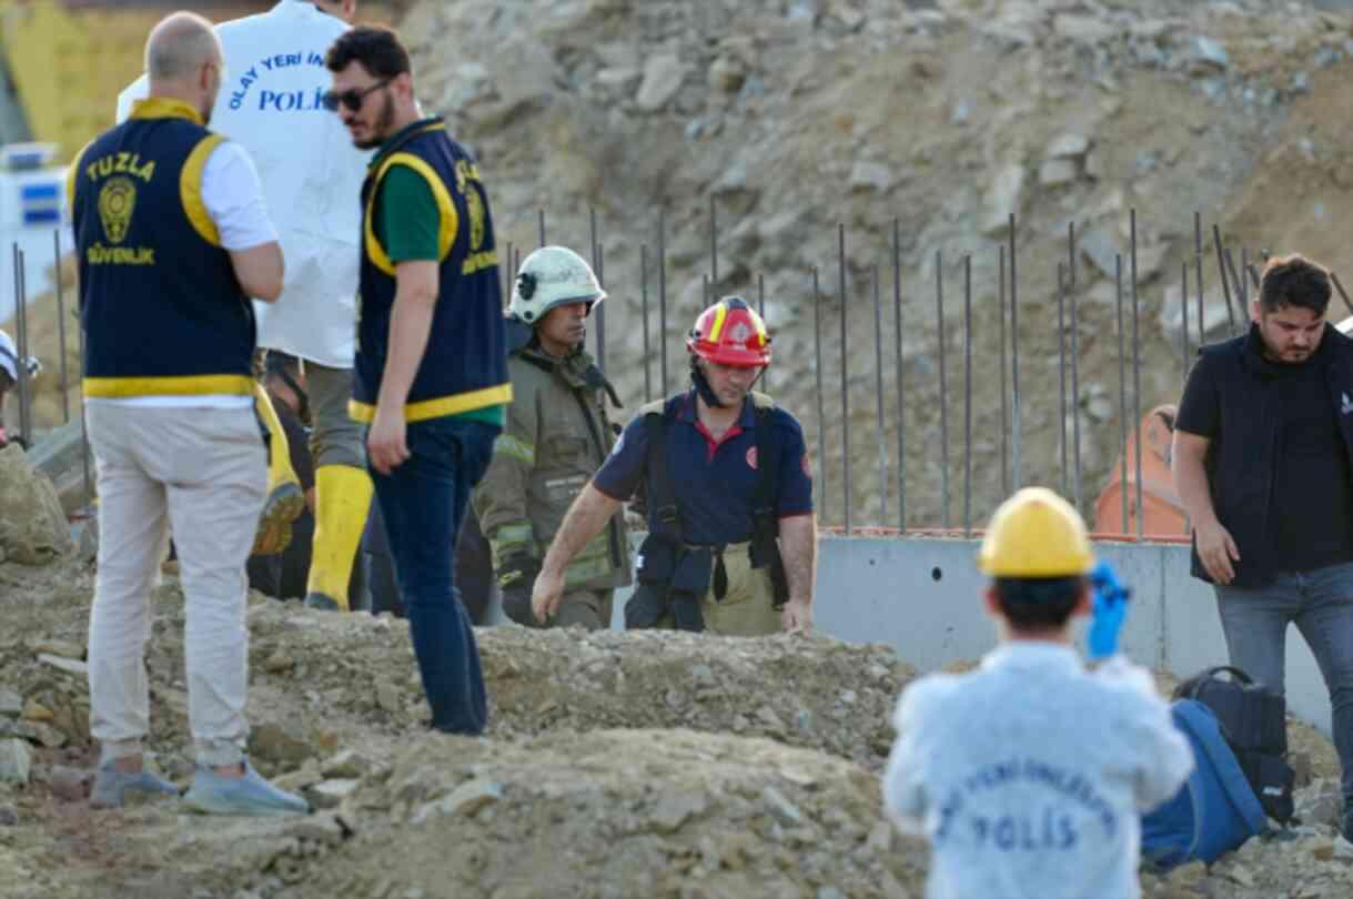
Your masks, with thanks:
<instances>
[{"instance_id":1,"label":"rubble-strewn dirt ground in the foreground beneath the vested men","mask_svg":"<svg viewBox=\"0 0 1353 899\"><path fill-rule=\"evenodd\" d=\"M0 565L0 746L32 754L28 783L0 784L3 899L921 895L924 843L894 834L879 806L890 714L915 676L888 647L483 628L491 724L453 738L423 726L405 623L253 594L250 753L317 812L95 811L81 662L92 579L74 556ZM175 578L154 608L147 750L187 785ZM1147 896L1353 890L1353 854L1330 826L1333 749L1298 723L1291 737L1310 823L1211 872L1145 875Z\"/></svg>"}]
</instances>

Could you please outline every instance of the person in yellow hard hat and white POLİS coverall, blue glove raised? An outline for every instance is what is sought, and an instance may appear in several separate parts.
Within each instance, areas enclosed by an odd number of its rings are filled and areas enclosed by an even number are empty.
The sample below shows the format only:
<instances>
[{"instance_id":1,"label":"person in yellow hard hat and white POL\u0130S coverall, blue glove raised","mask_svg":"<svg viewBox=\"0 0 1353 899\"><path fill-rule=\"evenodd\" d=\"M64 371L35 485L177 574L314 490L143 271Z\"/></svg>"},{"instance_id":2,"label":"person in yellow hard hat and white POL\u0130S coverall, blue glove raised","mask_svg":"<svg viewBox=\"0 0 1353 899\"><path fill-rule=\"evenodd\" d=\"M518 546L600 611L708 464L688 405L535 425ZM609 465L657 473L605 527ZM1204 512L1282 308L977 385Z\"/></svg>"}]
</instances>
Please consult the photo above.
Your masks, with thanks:
<instances>
[{"instance_id":1,"label":"person in yellow hard hat and white POL\u0130S coverall, blue glove raised","mask_svg":"<svg viewBox=\"0 0 1353 899\"><path fill-rule=\"evenodd\" d=\"M931 841L927 896L1138 896L1139 814L1193 755L1149 673L1118 654L1127 592L1043 487L996 510L978 567L1000 646L907 688L884 774L889 815ZM1092 588L1095 672L1072 647Z\"/></svg>"}]
</instances>

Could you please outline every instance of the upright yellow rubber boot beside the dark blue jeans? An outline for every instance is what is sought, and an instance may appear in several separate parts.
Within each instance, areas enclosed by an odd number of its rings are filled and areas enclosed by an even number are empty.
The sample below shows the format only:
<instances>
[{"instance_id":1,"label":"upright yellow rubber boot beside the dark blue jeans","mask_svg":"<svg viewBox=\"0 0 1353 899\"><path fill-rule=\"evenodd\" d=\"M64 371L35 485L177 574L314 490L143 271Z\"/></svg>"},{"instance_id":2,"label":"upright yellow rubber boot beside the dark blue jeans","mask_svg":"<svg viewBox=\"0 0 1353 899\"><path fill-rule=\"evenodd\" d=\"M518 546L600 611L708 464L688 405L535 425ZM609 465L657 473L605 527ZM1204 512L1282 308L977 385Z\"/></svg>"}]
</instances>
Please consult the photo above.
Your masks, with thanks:
<instances>
[{"instance_id":1,"label":"upright yellow rubber boot beside the dark blue jeans","mask_svg":"<svg viewBox=\"0 0 1353 899\"><path fill-rule=\"evenodd\" d=\"M315 468L315 542L306 584L307 607L348 611L348 581L367 528L372 491L371 475L361 468Z\"/></svg>"}]
</instances>

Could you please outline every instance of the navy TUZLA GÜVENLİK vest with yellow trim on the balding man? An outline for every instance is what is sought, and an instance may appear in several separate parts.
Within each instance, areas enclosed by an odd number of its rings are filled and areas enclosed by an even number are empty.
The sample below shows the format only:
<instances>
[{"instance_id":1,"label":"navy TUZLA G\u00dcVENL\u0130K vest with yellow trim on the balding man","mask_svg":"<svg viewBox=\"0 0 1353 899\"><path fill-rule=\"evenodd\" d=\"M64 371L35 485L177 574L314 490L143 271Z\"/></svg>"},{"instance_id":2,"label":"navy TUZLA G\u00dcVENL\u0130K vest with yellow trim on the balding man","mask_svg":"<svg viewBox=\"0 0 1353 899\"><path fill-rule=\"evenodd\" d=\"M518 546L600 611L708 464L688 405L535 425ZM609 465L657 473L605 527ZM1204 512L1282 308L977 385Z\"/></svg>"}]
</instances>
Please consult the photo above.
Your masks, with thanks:
<instances>
[{"instance_id":1,"label":"navy TUZLA G\u00dcVENL\u0130K vest with yellow trim on the balding man","mask_svg":"<svg viewBox=\"0 0 1353 899\"><path fill-rule=\"evenodd\" d=\"M87 397L250 393L253 306L202 199L223 141L152 97L72 162Z\"/></svg>"}]
</instances>

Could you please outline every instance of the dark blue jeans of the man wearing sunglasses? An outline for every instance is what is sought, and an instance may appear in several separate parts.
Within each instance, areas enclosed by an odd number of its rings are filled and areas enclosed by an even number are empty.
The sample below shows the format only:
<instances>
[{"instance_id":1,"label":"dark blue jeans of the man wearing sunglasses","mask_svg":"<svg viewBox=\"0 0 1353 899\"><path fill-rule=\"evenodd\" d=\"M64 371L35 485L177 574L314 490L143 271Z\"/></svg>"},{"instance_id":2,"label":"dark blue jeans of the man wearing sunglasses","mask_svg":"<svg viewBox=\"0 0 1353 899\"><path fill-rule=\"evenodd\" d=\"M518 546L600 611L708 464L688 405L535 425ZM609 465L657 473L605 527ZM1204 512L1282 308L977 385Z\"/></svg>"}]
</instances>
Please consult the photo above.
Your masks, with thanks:
<instances>
[{"instance_id":1,"label":"dark blue jeans of the man wearing sunglasses","mask_svg":"<svg viewBox=\"0 0 1353 899\"><path fill-rule=\"evenodd\" d=\"M479 421L417 421L407 429L409 460L390 475L371 471L432 726L452 734L480 734L488 723L479 649L453 584L452 552L498 431Z\"/></svg>"}]
</instances>

